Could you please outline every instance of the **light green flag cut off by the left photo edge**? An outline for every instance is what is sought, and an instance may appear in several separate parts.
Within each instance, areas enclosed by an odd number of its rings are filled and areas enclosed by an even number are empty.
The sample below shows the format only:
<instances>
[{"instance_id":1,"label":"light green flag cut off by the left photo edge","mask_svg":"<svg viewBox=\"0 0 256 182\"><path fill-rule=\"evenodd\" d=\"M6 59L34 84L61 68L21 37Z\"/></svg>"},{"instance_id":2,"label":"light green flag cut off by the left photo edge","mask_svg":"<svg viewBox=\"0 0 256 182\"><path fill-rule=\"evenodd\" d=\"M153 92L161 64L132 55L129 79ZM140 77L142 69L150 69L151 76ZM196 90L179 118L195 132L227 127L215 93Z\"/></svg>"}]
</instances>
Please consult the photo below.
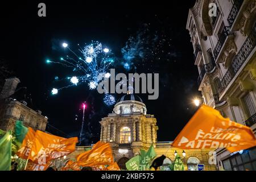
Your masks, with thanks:
<instances>
[{"instance_id":1,"label":"light green flag cut off by the left photo edge","mask_svg":"<svg viewBox=\"0 0 256 182\"><path fill-rule=\"evenodd\" d=\"M11 132L0 136L0 171L11 170Z\"/></svg>"}]
</instances>

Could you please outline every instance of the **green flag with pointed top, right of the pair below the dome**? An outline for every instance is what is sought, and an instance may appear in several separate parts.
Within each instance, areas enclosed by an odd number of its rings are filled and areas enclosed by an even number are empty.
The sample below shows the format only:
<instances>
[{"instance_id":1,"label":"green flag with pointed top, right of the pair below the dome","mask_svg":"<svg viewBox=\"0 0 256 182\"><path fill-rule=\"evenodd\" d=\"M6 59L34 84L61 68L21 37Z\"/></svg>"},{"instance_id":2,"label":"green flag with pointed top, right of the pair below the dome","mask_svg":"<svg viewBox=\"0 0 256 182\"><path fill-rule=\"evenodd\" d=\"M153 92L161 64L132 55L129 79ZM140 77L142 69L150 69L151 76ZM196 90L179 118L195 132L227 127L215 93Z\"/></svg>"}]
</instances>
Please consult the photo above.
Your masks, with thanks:
<instances>
[{"instance_id":1,"label":"green flag with pointed top, right of the pair below the dome","mask_svg":"<svg viewBox=\"0 0 256 182\"><path fill-rule=\"evenodd\" d=\"M146 154L145 152L142 152L141 154L139 170L144 171L146 169L150 169L150 164L155 156L155 148L151 145Z\"/></svg>"}]
</instances>

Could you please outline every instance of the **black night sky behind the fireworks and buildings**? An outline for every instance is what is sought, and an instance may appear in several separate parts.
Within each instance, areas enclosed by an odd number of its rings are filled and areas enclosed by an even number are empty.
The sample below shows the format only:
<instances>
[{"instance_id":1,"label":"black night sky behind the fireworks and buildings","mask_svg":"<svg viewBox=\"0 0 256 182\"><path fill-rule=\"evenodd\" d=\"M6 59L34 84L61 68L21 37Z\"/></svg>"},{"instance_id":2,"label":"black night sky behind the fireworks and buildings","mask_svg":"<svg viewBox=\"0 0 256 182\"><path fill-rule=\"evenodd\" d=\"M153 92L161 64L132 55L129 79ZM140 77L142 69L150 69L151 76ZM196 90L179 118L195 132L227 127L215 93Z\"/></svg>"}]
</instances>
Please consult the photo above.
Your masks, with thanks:
<instances>
[{"instance_id":1,"label":"black night sky behind the fireworks and buildings","mask_svg":"<svg viewBox=\"0 0 256 182\"><path fill-rule=\"evenodd\" d=\"M76 50L77 44L97 40L112 49L118 72L159 73L158 100L138 95L147 106L147 114L154 114L158 121L158 141L174 140L197 109L193 97L200 95L191 38L185 29L188 10L195 1L157 1L158 5L155 1L42 2L47 6L45 18L38 16L36 1L0 5L0 59L14 72L11 76L20 78L20 86L27 86L34 109L42 110L51 126L64 131L67 136L63 137L73 137L79 135L81 104L86 101L82 144L99 140L99 121L112 113L113 106L106 106L103 95L87 85L63 89L51 96L51 89L60 84L56 76L75 73L60 65L46 64L46 59L70 55L61 47L63 42ZM122 49L130 48L134 59L127 71L122 65ZM116 99L121 96L115 94Z\"/></svg>"}]
</instances>

